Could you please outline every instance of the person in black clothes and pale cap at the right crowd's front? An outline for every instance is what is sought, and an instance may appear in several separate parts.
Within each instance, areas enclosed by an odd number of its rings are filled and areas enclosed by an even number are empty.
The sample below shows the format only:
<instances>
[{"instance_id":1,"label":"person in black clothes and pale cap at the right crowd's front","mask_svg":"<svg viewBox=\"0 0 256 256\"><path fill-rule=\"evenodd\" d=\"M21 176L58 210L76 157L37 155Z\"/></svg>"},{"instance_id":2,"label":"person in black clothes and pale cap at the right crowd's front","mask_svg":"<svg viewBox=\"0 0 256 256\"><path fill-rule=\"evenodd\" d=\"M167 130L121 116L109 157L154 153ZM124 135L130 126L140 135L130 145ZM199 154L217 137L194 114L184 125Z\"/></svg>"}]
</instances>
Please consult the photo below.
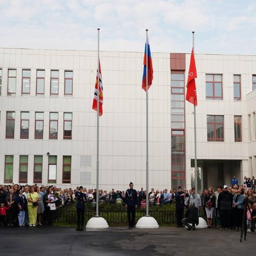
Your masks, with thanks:
<instances>
[{"instance_id":1,"label":"person in black clothes and pale cap at the right crowd's front","mask_svg":"<svg viewBox=\"0 0 256 256\"><path fill-rule=\"evenodd\" d=\"M223 191L218 196L218 209L220 210L220 222L222 230L229 230L233 196L228 191L228 186L223 186Z\"/></svg>"}]
</instances>

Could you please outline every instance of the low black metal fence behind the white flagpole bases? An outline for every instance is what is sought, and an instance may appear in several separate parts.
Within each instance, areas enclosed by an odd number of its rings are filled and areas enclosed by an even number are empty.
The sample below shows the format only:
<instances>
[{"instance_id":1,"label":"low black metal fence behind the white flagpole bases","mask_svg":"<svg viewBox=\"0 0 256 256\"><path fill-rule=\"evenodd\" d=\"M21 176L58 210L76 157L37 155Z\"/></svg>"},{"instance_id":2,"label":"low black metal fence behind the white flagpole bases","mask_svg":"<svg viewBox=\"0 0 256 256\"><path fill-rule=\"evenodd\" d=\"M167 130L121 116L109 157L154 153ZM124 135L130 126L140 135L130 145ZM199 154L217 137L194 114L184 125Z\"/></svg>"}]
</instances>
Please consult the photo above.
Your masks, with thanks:
<instances>
[{"instance_id":1,"label":"low black metal fence behind the white flagpole bases","mask_svg":"<svg viewBox=\"0 0 256 256\"><path fill-rule=\"evenodd\" d=\"M145 216L145 210L136 210L135 220L139 220L142 216ZM127 213L124 210L102 210L99 211L99 215L104 218L107 223L112 225L126 225L127 224ZM156 219L158 224L175 224L176 223L176 212L170 210L151 210L149 215ZM95 216L95 210L85 211L85 223ZM205 218L204 212L200 211L200 216ZM55 221L63 224L76 224L77 214L76 210L56 210Z\"/></svg>"}]
</instances>

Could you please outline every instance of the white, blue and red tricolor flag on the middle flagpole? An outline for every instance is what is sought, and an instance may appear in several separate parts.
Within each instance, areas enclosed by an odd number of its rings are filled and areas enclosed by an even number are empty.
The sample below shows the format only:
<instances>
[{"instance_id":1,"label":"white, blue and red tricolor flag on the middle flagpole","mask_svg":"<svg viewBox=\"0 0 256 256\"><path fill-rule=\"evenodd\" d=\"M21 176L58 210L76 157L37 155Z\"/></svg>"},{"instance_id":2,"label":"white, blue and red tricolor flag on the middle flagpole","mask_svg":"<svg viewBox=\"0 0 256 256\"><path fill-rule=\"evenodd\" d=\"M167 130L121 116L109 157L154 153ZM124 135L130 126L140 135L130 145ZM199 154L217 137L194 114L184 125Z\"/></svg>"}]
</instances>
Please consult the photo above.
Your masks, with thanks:
<instances>
[{"instance_id":1,"label":"white, blue and red tricolor flag on the middle flagpole","mask_svg":"<svg viewBox=\"0 0 256 256\"><path fill-rule=\"evenodd\" d=\"M146 37L143 64L144 64L144 70L143 70L143 77L142 77L142 89L147 91L147 89L149 89L149 87L152 85L152 80L153 80L153 66L152 66L152 58L151 58L151 51L150 51L148 37ZM147 69L147 89L146 89L146 69Z\"/></svg>"}]
</instances>

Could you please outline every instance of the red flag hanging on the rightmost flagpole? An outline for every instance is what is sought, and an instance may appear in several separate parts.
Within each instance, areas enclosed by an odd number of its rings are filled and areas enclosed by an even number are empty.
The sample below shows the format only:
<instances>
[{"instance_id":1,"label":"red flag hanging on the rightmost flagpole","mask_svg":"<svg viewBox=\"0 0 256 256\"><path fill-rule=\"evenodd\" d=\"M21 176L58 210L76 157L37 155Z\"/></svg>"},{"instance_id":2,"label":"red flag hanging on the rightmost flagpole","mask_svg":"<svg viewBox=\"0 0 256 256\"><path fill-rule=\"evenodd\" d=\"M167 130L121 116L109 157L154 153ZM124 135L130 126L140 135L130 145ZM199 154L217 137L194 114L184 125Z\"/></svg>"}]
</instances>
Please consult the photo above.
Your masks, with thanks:
<instances>
[{"instance_id":1,"label":"red flag hanging on the rightmost flagpole","mask_svg":"<svg viewBox=\"0 0 256 256\"><path fill-rule=\"evenodd\" d=\"M188 74L188 82L186 83L186 100L195 106L198 105L198 99L196 97L196 86L195 86L195 78L196 75L196 67L195 67L195 57L194 57L194 49L192 48L191 57L190 57L190 65L189 65L189 74Z\"/></svg>"}]
</instances>

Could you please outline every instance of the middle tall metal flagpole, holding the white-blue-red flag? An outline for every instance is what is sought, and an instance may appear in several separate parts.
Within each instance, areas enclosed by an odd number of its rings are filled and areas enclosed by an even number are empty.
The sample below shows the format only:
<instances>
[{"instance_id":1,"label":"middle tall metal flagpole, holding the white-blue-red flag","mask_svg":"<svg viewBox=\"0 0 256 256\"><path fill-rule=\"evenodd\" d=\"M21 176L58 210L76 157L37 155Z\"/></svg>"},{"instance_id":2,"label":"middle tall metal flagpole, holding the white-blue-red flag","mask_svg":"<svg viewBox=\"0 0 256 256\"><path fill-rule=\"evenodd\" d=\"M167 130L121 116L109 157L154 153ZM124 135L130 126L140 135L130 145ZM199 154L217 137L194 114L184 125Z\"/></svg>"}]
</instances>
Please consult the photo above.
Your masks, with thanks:
<instances>
[{"instance_id":1,"label":"middle tall metal flagpole, holding the white-blue-red flag","mask_svg":"<svg viewBox=\"0 0 256 256\"><path fill-rule=\"evenodd\" d=\"M148 44L149 38L147 37L146 29L146 216L149 216L149 95L147 92L149 86L149 77L148 77Z\"/></svg>"}]
</instances>

